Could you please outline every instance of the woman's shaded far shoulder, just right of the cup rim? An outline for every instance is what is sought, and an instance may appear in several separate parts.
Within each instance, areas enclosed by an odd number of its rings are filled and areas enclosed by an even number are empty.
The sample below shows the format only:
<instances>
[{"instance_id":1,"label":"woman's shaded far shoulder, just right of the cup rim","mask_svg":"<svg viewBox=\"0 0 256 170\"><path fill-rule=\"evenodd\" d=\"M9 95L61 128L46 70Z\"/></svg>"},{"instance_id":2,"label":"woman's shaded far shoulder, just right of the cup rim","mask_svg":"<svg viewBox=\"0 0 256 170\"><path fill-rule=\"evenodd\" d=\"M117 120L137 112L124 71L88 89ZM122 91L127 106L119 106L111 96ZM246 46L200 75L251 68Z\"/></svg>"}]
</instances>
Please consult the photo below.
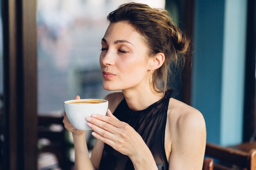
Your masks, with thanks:
<instances>
[{"instance_id":1,"label":"woman's shaded far shoulder, just right of the cup rim","mask_svg":"<svg viewBox=\"0 0 256 170\"><path fill-rule=\"evenodd\" d=\"M110 93L104 99L108 100L108 108L113 113L118 104L124 99L124 94L122 92Z\"/></svg>"}]
</instances>

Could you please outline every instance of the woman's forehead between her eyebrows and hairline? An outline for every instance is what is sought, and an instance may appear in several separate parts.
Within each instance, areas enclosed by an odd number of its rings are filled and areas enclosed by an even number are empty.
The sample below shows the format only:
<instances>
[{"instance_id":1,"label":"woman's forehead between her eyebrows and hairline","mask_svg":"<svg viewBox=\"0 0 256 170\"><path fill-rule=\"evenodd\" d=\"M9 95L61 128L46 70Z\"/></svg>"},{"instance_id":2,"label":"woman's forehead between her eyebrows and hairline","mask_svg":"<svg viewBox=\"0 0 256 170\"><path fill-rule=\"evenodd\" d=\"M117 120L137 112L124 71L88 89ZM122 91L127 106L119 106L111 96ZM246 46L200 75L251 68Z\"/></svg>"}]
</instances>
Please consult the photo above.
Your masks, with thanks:
<instances>
[{"instance_id":1,"label":"woman's forehead between her eyebrows and hairline","mask_svg":"<svg viewBox=\"0 0 256 170\"><path fill-rule=\"evenodd\" d=\"M110 23L104 38L110 43L116 40L127 40L134 45L138 43L144 44L142 35L127 22Z\"/></svg>"}]
</instances>

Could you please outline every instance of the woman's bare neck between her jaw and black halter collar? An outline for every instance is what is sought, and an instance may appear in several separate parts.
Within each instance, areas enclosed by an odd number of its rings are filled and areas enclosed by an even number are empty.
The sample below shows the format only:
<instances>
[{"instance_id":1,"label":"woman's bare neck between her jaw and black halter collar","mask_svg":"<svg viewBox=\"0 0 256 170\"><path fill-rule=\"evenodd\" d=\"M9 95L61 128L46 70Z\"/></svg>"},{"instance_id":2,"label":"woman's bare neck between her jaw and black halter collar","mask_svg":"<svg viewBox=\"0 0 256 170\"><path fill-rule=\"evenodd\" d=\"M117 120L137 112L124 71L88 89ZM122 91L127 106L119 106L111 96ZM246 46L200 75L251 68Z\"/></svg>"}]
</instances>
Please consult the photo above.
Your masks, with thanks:
<instances>
[{"instance_id":1,"label":"woman's bare neck between her jaw and black halter collar","mask_svg":"<svg viewBox=\"0 0 256 170\"><path fill-rule=\"evenodd\" d=\"M143 110L162 99L164 95L164 93L151 90L150 86L146 88L144 86L136 89L125 89L123 94L128 107L132 110Z\"/></svg>"}]
</instances>

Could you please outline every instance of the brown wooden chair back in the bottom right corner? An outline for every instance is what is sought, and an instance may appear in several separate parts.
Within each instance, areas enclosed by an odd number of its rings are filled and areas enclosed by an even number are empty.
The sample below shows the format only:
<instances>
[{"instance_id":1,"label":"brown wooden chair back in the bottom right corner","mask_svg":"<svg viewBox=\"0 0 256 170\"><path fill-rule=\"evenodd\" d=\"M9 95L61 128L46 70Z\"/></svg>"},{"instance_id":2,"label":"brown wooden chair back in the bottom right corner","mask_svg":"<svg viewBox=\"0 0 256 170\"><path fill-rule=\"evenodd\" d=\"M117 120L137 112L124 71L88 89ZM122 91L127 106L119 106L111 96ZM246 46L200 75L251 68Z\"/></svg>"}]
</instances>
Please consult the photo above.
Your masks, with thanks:
<instances>
[{"instance_id":1,"label":"brown wooden chair back in the bottom right corner","mask_svg":"<svg viewBox=\"0 0 256 170\"><path fill-rule=\"evenodd\" d=\"M214 170L256 170L256 143L222 147L206 144L205 155L214 161Z\"/></svg>"}]
</instances>

